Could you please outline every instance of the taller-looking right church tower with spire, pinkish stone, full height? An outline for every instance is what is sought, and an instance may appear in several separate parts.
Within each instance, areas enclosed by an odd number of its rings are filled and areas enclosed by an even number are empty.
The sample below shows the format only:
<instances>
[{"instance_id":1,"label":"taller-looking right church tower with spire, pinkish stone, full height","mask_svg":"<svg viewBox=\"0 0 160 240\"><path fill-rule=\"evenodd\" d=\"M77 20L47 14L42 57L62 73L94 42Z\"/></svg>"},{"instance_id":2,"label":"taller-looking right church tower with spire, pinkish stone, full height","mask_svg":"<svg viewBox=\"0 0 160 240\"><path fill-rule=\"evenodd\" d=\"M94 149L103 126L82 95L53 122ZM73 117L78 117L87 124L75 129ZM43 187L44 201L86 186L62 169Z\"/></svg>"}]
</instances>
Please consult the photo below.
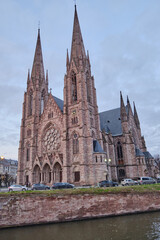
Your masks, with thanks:
<instances>
[{"instance_id":1,"label":"taller-looking right church tower with spire, pinkish stone, full height","mask_svg":"<svg viewBox=\"0 0 160 240\"><path fill-rule=\"evenodd\" d=\"M63 118L64 181L93 185L103 180L106 176L106 154L100 145L102 140L96 89L76 6L70 58L67 50Z\"/></svg>"}]
</instances>

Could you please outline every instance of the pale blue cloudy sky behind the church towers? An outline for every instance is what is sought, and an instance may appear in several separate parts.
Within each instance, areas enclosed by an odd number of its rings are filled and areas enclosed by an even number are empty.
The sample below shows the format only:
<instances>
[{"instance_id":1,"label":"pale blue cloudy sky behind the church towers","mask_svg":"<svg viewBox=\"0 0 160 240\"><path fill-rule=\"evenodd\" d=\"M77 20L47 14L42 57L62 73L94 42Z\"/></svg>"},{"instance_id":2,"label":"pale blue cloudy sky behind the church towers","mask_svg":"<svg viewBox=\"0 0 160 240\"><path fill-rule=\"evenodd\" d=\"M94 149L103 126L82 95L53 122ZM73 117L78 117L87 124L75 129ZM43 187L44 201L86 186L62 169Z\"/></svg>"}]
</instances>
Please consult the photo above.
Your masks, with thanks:
<instances>
[{"instance_id":1,"label":"pale blue cloudy sky behind the church towers","mask_svg":"<svg viewBox=\"0 0 160 240\"><path fill-rule=\"evenodd\" d=\"M99 112L136 104L148 151L160 154L160 1L77 0ZM0 1L0 155L18 159L22 103L38 22L52 94L63 99L73 0Z\"/></svg>"}]
</instances>

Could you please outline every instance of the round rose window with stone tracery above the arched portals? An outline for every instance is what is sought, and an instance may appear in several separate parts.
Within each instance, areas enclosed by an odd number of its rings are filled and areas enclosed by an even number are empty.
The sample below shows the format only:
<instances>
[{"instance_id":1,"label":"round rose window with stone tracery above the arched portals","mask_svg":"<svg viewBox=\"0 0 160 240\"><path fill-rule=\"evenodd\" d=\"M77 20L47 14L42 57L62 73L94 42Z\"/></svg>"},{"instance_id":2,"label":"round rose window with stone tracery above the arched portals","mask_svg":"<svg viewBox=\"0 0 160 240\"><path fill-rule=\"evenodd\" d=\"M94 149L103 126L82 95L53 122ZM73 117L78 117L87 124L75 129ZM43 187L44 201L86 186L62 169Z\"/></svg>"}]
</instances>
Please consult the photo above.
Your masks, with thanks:
<instances>
[{"instance_id":1,"label":"round rose window with stone tracery above the arched portals","mask_svg":"<svg viewBox=\"0 0 160 240\"><path fill-rule=\"evenodd\" d=\"M60 133L55 128L50 128L44 136L44 147L47 151L57 150L60 147Z\"/></svg>"}]
</instances>

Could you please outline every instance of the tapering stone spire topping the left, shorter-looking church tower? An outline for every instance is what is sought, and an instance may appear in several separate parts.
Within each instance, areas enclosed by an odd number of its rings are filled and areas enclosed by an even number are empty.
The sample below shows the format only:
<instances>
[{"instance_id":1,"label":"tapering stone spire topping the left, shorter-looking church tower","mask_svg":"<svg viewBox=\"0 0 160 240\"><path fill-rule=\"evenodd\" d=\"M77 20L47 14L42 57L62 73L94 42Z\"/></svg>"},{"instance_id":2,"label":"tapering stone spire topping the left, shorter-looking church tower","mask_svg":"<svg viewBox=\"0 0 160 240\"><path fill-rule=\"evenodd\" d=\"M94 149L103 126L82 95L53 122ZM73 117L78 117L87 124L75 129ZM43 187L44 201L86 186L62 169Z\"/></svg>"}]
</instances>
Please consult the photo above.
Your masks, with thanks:
<instances>
[{"instance_id":1,"label":"tapering stone spire topping the left, shorter-looking church tower","mask_svg":"<svg viewBox=\"0 0 160 240\"><path fill-rule=\"evenodd\" d=\"M40 39L40 29L38 29L38 37L37 37L36 50L35 50L34 61L32 66L31 79L33 81L33 84L35 83L40 84L42 81L45 80L42 47L41 47L41 39Z\"/></svg>"}]
</instances>

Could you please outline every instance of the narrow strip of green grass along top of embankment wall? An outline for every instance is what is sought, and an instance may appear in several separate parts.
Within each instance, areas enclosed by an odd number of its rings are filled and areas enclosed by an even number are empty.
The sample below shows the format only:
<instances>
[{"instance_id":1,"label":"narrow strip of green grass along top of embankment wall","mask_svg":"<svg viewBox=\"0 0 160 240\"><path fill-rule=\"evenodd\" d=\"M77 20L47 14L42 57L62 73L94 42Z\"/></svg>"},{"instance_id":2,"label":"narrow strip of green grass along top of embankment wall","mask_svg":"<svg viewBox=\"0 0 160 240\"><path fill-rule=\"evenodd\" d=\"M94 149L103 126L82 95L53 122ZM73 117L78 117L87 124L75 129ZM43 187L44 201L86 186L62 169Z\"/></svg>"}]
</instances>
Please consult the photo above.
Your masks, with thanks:
<instances>
[{"instance_id":1,"label":"narrow strip of green grass along top of embankment wall","mask_svg":"<svg viewBox=\"0 0 160 240\"><path fill-rule=\"evenodd\" d=\"M108 187L108 188L75 188L75 189L61 189L61 190L44 190L44 191L24 191L24 192L0 192L1 196L7 195L83 195L83 194L116 194L116 193L160 193L160 184L138 185L127 187Z\"/></svg>"}]
</instances>

